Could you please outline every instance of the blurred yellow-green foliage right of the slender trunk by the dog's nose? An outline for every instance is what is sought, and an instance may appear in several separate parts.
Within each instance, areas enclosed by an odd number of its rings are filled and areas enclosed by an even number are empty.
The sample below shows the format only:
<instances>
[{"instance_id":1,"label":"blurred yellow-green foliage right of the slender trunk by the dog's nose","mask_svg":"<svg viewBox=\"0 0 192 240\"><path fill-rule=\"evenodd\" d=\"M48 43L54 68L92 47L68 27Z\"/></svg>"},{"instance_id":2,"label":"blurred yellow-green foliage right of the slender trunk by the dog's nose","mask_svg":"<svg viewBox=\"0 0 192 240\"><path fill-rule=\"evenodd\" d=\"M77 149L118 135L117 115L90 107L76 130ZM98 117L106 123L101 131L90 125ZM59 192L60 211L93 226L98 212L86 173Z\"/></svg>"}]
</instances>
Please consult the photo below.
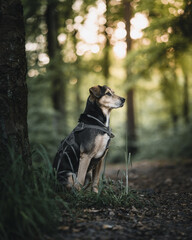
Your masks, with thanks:
<instances>
[{"instance_id":1,"label":"blurred yellow-green foliage right of the slender trunk by the dog's nose","mask_svg":"<svg viewBox=\"0 0 192 240\"><path fill-rule=\"evenodd\" d=\"M127 67L131 84L137 90L139 86L138 92L147 89L147 94L140 95L152 107L149 112L143 110L147 108L144 102L140 106L137 158L190 158L192 2L137 1L135 13L145 14L149 26L127 56ZM156 116L151 117L152 113ZM144 123L146 117L149 124Z\"/></svg>"}]
</instances>

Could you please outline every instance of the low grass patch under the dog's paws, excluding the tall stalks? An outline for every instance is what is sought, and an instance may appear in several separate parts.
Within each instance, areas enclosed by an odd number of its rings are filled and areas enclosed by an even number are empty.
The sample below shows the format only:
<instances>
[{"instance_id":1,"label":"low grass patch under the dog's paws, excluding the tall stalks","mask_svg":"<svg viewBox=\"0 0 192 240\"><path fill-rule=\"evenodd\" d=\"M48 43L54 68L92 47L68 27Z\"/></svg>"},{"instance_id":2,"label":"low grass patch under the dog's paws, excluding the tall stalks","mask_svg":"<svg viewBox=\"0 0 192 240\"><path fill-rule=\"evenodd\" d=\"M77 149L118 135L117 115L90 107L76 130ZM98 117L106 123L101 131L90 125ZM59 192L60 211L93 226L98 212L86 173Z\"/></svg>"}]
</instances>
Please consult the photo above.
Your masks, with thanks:
<instances>
[{"instance_id":1,"label":"low grass patch under the dog's paws, excluding the tall stalks","mask_svg":"<svg viewBox=\"0 0 192 240\"><path fill-rule=\"evenodd\" d=\"M85 208L129 208L132 205L142 205L138 194L134 190L130 190L127 194L122 181L111 179L101 180L98 194L89 189L79 192L72 189L70 191L66 190L60 196L71 210Z\"/></svg>"}]
</instances>

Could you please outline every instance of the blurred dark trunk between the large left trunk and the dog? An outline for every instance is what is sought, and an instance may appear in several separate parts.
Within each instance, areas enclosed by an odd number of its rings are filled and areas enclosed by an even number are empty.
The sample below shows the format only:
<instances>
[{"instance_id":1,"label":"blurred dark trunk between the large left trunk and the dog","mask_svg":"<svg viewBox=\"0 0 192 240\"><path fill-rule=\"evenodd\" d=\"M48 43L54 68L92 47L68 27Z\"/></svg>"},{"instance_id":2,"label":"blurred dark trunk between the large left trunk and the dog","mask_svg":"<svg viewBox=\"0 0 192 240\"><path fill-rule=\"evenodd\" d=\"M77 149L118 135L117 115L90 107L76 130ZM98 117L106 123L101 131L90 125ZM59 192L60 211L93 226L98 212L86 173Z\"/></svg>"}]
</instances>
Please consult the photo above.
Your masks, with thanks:
<instances>
[{"instance_id":1,"label":"blurred dark trunk between the large left trunk and the dog","mask_svg":"<svg viewBox=\"0 0 192 240\"><path fill-rule=\"evenodd\" d=\"M66 117L65 109L65 86L62 76L62 57L60 54L60 47L57 41L58 36L58 19L57 19L57 1L48 1L46 11L46 23L47 23L47 43L48 43L48 55L50 57L49 70L52 74L52 103L53 108L57 111L56 129L57 132L63 128L63 122Z\"/></svg>"}]
</instances>

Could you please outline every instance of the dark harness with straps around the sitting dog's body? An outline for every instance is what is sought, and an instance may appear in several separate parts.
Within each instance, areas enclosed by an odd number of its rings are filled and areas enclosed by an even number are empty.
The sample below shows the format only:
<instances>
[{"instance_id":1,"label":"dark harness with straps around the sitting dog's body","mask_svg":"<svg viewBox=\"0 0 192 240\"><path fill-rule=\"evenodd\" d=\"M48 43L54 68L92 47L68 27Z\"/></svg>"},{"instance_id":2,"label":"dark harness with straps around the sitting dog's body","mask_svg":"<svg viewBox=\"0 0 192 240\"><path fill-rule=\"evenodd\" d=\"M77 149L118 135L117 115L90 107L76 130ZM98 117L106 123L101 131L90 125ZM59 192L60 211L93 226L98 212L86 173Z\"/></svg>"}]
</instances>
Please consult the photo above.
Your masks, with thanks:
<instances>
[{"instance_id":1,"label":"dark harness with straps around the sitting dog's body","mask_svg":"<svg viewBox=\"0 0 192 240\"><path fill-rule=\"evenodd\" d=\"M78 171L79 166L79 157L80 157L80 147L75 140L75 134L81 132L87 128L100 130L104 133L107 133L109 136L109 140L107 142L106 149L103 155L99 159L95 159L94 162L98 162L106 153L111 138L114 137L111 129L106 127L99 119L91 116L89 114L86 115L88 118L91 118L97 121L99 125L94 124L86 124L84 122L79 122L78 125L73 129L71 134L61 141L60 146L58 148L55 160L54 160L54 168L56 168L58 180L60 182L65 181L65 177L67 173L76 173ZM56 164L55 164L56 163Z\"/></svg>"}]
</instances>

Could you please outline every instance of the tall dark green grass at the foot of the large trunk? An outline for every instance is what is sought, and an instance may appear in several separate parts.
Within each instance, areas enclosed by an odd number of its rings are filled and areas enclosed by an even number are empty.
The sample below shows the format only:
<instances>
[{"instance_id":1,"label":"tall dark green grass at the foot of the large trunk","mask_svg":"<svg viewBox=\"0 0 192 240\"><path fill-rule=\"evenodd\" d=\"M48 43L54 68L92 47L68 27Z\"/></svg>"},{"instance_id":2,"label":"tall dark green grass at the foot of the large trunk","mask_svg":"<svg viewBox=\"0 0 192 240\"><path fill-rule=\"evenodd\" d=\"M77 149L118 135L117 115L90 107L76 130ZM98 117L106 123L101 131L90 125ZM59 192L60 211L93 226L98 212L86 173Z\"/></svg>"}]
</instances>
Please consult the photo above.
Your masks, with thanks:
<instances>
[{"instance_id":1,"label":"tall dark green grass at the foot of the large trunk","mask_svg":"<svg viewBox=\"0 0 192 240\"><path fill-rule=\"evenodd\" d=\"M55 229L64 202L54 191L52 168L43 149L34 152L41 167L28 168L10 150L0 164L0 239L37 239Z\"/></svg>"}]
</instances>

